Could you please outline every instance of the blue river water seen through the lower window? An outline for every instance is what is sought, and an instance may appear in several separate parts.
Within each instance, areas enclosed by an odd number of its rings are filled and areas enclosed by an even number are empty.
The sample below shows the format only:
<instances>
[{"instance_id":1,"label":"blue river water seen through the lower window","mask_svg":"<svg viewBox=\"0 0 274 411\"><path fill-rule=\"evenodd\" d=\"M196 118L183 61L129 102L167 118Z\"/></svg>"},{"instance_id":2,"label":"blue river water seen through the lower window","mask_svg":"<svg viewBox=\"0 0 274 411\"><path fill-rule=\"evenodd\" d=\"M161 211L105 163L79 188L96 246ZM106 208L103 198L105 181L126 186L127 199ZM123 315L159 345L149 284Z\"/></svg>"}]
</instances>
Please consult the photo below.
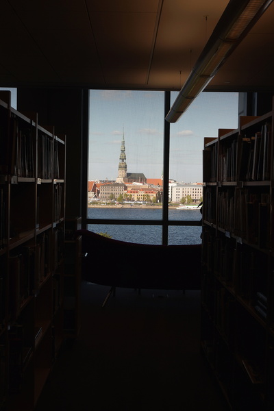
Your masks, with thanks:
<instances>
[{"instance_id":1,"label":"blue river water seen through the lower window","mask_svg":"<svg viewBox=\"0 0 274 411\"><path fill-rule=\"evenodd\" d=\"M162 209L155 208L88 208L89 219L161 220ZM200 221L199 210L169 210L170 220ZM108 233L116 240L141 244L162 243L160 225L107 225L89 224L92 232ZM201 226L169 226L169 245L200 244Z\"/></svg>"}]
</instances>

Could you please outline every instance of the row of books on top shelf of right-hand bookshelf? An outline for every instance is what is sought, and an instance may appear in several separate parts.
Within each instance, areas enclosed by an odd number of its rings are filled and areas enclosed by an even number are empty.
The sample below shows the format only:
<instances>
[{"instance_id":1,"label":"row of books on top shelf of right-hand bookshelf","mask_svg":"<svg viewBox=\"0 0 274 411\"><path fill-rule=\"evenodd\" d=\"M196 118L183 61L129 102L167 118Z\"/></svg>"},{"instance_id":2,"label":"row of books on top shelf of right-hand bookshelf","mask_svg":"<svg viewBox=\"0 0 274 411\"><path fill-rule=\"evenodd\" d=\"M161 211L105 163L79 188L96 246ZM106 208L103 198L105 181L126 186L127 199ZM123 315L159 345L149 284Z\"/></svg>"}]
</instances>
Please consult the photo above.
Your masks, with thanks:
<instances>
[{"instance_id":1,"label":"row of books on top shelf of right-hand bookshelf","mask_svg":"<svg viewBox=\"0 0 274 411\"><path fill-rule=\"evenodd\" d=\"M208 151L208 149L207 149ZM252 136L238 134L204 152L205 182L265 181L271 176L271 125L265 123ZM217 170L219 166L219 171ZM219 173L219 175L218 175Z\"/></svg>"}]
</instances>

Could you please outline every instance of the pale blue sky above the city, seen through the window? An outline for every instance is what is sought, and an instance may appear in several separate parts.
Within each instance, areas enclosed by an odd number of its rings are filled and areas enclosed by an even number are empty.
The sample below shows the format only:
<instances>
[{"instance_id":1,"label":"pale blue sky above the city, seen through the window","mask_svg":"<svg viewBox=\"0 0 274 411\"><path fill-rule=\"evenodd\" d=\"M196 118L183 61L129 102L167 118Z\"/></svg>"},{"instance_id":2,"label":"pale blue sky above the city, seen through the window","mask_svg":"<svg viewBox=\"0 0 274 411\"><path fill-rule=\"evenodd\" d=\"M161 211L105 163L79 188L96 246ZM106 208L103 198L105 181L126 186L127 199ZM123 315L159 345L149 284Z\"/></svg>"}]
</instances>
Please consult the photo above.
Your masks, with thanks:
<instances>
[{"instance_id":1,"label":"pale blue sky above the city, seen through the window","mask_svg":"<svg viewBox=\"0 0 274 411\"><path fill-rule=\"evenodd\" d=\"M171 93L171 104L177 92ZM204 137L238 127L238 93L202 92L171 123L169 178L202 182ZM91 90L88 179L116 179L125 137L127 172L160 178L163 171L164 92Z\"/></svg>"}]
</instances>

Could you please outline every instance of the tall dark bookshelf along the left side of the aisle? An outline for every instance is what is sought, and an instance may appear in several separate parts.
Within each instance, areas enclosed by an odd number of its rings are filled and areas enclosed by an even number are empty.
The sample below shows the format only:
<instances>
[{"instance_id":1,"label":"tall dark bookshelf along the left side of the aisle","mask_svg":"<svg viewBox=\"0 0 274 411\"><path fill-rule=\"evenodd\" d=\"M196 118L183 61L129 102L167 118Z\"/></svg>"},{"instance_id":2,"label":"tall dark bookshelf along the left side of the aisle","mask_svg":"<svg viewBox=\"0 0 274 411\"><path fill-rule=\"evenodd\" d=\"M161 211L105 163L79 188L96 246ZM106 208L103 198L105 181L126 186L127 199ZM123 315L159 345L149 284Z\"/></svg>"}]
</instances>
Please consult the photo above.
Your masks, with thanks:
<instances>
[{"instance_id":1,"label":"tall dark bookshelf along the left side of the aisle","mask_svg":"<svg viewBox=\"0 0 274 411\"><path fill-rule=\"evenodd\" d=\"M0 92L1 410L35 408L64 338L65 150Z\"/></svg>"}]
</instances>

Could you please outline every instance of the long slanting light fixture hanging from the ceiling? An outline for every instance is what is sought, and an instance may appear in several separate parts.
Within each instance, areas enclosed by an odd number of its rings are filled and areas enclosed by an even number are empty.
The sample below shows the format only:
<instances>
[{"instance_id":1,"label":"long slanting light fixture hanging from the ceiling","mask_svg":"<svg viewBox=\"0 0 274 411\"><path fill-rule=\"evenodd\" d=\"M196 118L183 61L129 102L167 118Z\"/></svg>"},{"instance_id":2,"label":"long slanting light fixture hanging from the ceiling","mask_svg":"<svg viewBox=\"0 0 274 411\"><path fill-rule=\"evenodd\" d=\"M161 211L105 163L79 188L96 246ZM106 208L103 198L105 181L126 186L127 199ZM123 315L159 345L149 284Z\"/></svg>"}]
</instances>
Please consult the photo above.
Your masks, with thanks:
<instances>
[{"instance_id":1,"label":"long slanting light fixture hanging from the ceiling","mask_svg":"<svg viewBox=\"0 0 274 411\"><path fill-rule=\"evenodd\" d=\"M175 123L206 88L227 57L273 0L230 0L188 79L175 99L166 121Z\"/></svg>"}]
</instances>

